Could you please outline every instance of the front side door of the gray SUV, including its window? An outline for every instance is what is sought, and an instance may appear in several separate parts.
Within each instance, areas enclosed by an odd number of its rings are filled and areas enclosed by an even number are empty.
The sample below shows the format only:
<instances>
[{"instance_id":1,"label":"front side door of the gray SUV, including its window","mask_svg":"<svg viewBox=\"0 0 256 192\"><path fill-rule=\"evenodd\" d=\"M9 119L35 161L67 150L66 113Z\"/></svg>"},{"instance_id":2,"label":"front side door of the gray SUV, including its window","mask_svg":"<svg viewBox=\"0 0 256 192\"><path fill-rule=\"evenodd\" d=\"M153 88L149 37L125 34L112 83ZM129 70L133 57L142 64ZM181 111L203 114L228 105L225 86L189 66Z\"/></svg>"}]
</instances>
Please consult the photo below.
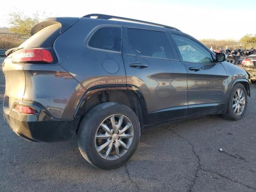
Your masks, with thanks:
<instances>
[{"instance_id":1,"label":"front side door of the gray SUV, including its window","mask_svg":"<svg viewBox=\"0 0 256 192\"><path fill-rule=\"evenodd\" d=\"M188 71L188 116L224 109L228 76L212 53L196 40L171 34L180 60Z\"/></svg>"}]
</instances>

